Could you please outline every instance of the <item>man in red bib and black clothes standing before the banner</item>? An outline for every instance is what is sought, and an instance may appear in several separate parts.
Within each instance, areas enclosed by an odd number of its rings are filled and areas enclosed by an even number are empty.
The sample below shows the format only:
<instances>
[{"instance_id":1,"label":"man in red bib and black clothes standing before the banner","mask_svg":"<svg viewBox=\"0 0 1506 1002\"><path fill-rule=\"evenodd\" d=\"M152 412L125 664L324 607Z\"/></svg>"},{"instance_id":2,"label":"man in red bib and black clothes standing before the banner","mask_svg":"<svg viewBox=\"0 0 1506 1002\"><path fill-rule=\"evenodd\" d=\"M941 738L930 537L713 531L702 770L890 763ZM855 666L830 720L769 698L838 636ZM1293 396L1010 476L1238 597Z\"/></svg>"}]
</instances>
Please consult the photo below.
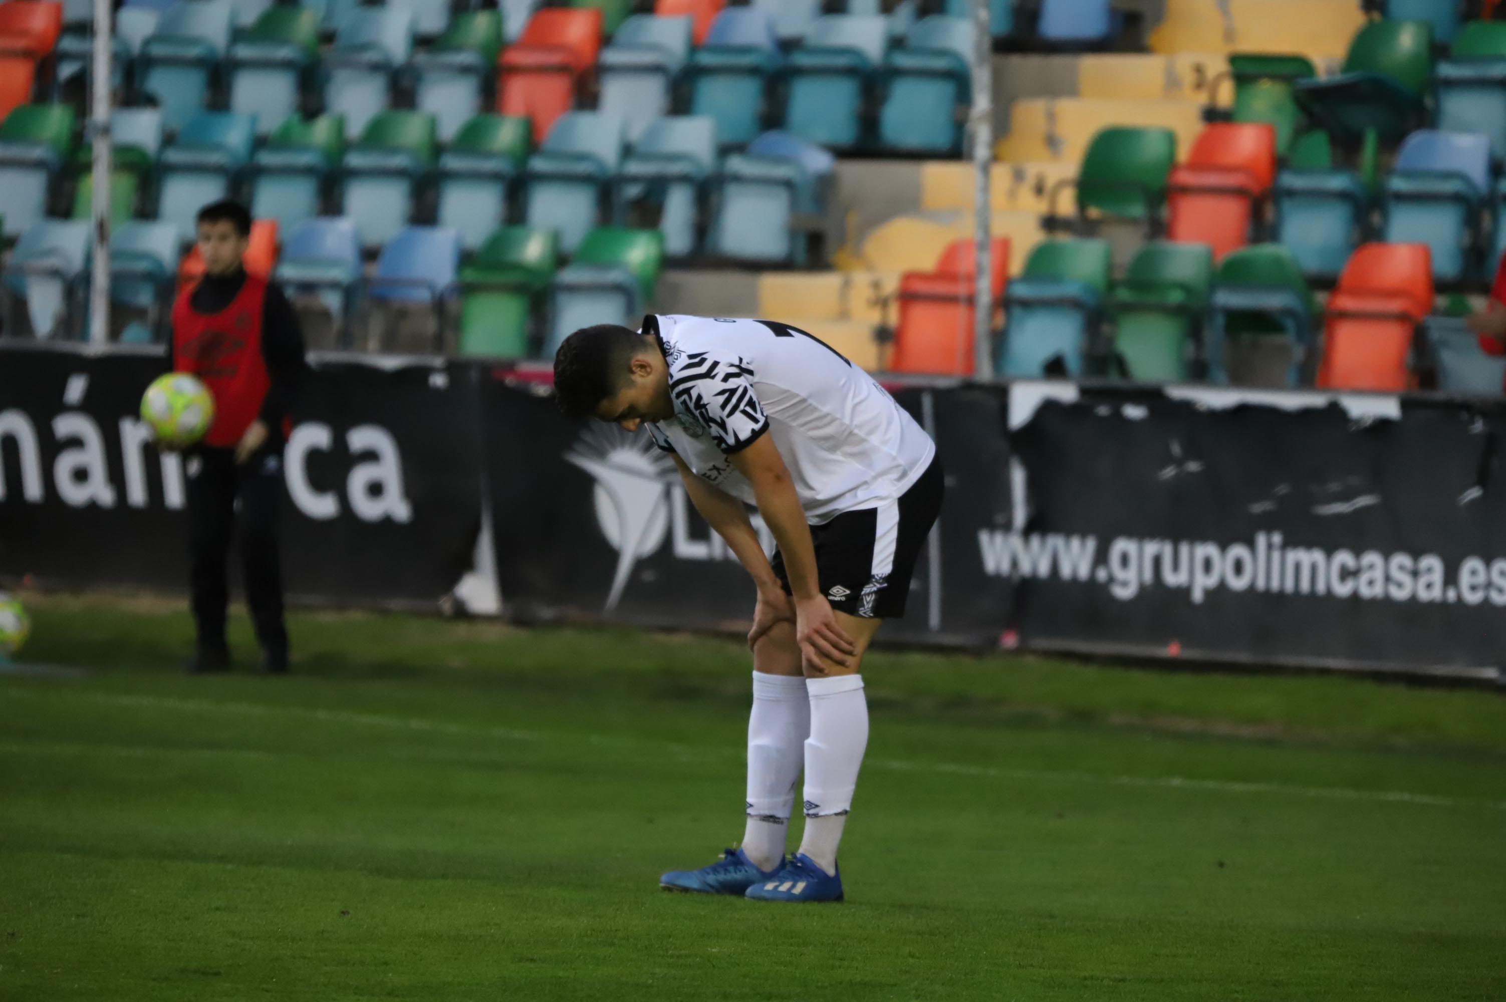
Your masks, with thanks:
<instances>
[{"instance_id":1,"label":"man in red bib and black clothes standing before the banner","mask_svg":"<svg viewBox=\"0 0 1506 1002\"><path fill-rule=\"evenodd\" d=\"M214 423L187 457L188 583L197 630L190 672L230 666L226 553L236 521L262 669L288 671L277 506L288 408L304 368L303 333L282 289L245 273L241 259L250 235L244 205L224 200L199 209L203 277L173 306L170 368L199 377L214 395Z\"/></svg>"}]
</instances>

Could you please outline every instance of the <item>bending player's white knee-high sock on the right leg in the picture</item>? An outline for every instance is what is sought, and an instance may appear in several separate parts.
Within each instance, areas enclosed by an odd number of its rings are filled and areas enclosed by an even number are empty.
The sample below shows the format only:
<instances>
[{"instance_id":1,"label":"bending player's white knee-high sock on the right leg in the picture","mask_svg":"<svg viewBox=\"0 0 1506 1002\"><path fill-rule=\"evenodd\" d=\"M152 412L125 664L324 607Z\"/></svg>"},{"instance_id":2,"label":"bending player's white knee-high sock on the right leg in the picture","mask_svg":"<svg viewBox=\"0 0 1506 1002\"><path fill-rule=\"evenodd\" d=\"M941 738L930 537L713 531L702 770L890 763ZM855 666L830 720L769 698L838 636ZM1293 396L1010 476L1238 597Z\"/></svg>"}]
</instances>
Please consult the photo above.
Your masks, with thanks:
<instances>
[{"instance_id":1,"label":"bending player's white knee-high sock on the right leg in the picture","mask_svg":"<svg viewBox=\"0 0 1506 1002\"><path fill-rule=\"evenodd\" d=\"M861 675L807 678L810 737L806 738L806 833L800 851L828 874L867 749L867 698Z\"/></svg>"}]
</instances>

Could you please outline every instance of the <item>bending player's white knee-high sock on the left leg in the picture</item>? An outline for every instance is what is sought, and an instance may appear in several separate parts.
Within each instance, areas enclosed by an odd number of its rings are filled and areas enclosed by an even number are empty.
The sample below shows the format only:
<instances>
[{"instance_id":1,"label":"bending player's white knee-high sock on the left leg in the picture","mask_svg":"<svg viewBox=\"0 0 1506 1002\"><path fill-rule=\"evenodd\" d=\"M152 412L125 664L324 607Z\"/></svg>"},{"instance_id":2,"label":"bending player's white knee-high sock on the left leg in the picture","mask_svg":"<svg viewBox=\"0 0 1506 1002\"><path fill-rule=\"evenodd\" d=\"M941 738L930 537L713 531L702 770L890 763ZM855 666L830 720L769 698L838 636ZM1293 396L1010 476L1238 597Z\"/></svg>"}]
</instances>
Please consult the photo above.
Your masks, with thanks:
<instances>
[{"instance_id":1,"label":"bending player's white knee-high sock on the left leg in the picture","mask_svg":"<svg viewBox=\"0 0 1506 1002\"><path fill-rule=\"evenodd\" d=\"M800 675L753 672L753 713L748 714L748 797L742 851L759 869L785 857L789 812L806 735L810 698Z\"/></svg>"}]
</instances>

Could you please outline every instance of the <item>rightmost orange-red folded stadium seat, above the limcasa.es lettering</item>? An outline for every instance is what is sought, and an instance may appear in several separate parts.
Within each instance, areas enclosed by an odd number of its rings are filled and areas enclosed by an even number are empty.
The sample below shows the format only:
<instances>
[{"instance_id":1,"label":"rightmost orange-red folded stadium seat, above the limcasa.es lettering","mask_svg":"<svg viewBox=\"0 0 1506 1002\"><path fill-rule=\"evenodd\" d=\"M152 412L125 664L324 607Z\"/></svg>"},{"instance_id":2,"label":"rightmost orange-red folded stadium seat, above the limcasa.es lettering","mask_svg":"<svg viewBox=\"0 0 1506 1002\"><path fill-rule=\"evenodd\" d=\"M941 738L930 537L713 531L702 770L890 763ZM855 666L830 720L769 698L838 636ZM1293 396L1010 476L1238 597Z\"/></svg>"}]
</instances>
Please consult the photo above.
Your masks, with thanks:
<instances>
[{"instance_id":1,"label":"rightmost orange-red folded stadium seat, above the limcasa.es lettering","mask_svg":"<svg viewBox=\"0 0 1506 1002\"><path fill-rule=\"evenodd\" d=\"M1413 344L1432 312L1428 258L1426 244L1364 244L1354 252L1324 309L1321 389L1413 389Z\"/></svg>"}]
</instances>

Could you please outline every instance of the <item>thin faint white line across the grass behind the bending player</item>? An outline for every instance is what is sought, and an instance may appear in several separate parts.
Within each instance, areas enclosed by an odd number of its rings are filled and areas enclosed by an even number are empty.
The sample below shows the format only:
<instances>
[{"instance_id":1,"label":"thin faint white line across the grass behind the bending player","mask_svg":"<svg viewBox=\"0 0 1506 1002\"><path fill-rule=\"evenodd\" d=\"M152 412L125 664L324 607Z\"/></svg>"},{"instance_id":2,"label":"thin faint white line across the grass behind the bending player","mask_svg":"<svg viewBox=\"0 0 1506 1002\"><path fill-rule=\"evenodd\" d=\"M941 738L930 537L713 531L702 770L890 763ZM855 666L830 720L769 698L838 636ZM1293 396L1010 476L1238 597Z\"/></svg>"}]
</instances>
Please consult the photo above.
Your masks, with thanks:
<instances>
[{"instance_id":1,"label":"thin faint white line across the grass behind the bending player","mask_svg":"<svg viewBox=\"0 0 1506 1002\"><path fill-rule=\"evenodd\" d=\"M12 695L32 695L41 690L15 690ZM447 723L443 720L428 720L423 717L390 717L373 713L352 713L346 710L318 710L310 707L282 707L258 702L215 702L212 699L182 699L172 696L125 696L114 693L69 693L71 696L104 702L116 707L143 707L154 710L182 711L221 711L238 714L285 716L319 720L322 723L349 723L361 726L396 728L404 731L423 731L437 734L455 734L471 737L503 738L511 741L587 741L592 744L613 747L652 747L660 752L672 752L676 756L703 759L709 753L732 756L733 750L726 747L706 749L681 741L664 741L654 738L628 738L599 734L565 734L559 731L526 731L520 728L473 726L464 723ZM181 749L179 749L181 750ZM738 753L741 758L741 753ZM1157 790L1197 790L1227 794L1258 794L1258 796L1289 796L1324 800L1366 800L1372 803L1405 803L1426 808L1483 808L1488 811L1506 811L1503 800L1470 800L1461 797L1438 797L1434 794L1411 793L1405 790L1355 790L1349 787L1294 787L1288 784L1253 782L1238 779L1193 779L1188 776L1123 776L1113 773L1083 773L1071 770L1047 768L1000 768L994 765L971 765L962 762L931 762L931 761L901 761L901 759L866 759L867 768L883 768L905 773L950 773L956 776L977 776L988 779L1017 779L1027 782L1081 782L1111 787L1148 787Z\"/></svg>"}]
</instances>

